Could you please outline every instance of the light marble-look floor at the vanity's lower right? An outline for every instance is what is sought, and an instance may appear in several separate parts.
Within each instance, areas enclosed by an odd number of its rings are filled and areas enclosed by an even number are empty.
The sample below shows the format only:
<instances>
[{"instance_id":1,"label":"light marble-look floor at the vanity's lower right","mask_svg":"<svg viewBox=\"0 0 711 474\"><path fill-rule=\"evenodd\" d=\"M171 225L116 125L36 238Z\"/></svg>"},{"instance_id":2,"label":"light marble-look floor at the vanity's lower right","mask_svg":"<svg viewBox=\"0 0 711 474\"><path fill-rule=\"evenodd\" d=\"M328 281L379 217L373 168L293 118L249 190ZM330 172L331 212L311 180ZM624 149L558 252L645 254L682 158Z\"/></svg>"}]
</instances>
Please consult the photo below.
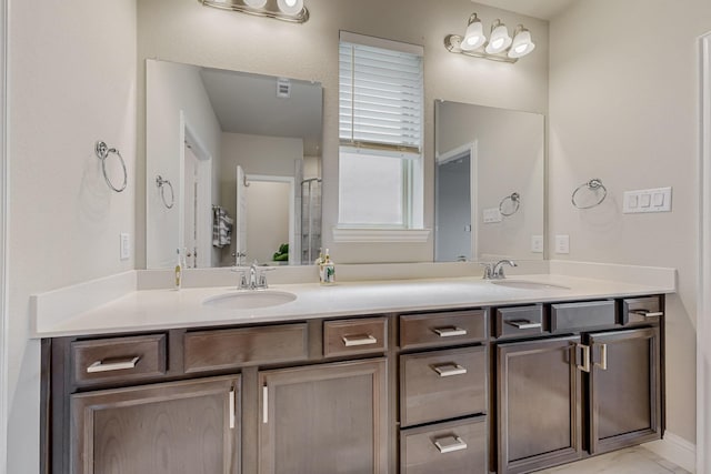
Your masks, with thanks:
<instances>
[{"instance_id":1,"label":"light marble-look floor at the vanity's lower right","mask_svg":"<svg viewBox=\"0 0 711 474\"><path fill-rule=\"evenodd\" d=\"M538 474L690 474L641 446L615 451L574 464L538 471Z\"/></svg>"}]
</instances>

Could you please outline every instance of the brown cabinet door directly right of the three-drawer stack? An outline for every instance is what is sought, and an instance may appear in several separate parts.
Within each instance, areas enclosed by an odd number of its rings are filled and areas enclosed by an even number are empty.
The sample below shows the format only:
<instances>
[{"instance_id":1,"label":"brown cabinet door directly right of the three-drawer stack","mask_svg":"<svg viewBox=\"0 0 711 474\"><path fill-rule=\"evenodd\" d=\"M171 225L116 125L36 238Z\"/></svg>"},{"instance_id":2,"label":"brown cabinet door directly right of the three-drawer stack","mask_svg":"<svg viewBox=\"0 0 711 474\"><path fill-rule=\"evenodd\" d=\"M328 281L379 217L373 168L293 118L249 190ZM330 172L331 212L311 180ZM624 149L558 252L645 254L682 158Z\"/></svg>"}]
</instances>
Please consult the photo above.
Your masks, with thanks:
<instances>
[{"instance_id":1,"label":"brown cabinet door directly right of the three-drawer stack","mask_svg":"<svg viewBox=\"0 0 711 474\"><path fill-rule=\"evenodd\" d=\"M582 456L578 360L587 354L579 343L575 336L497 346L499 474Z\"/></svg>"}]
</instances>

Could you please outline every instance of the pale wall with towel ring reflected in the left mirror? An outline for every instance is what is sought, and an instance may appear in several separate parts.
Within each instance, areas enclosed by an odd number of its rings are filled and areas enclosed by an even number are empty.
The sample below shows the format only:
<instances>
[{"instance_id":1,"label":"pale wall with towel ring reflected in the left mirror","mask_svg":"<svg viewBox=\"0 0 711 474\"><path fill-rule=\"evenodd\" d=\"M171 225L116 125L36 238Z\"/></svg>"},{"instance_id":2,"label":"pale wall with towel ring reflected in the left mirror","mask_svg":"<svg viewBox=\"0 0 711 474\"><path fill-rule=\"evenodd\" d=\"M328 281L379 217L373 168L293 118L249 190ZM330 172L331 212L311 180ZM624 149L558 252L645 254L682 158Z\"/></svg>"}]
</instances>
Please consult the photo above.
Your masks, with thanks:
<instances>
[{"instance_id":1,"label":"pale wall with towel ring reflected in the left mirror","mask_svg":"<svg viewBox=\"0 0 711 474\"><path fill-rule=\"evenodd\" d=\"M181 248L180 210L184 200L183 171L180 157L183 153L184 130L182 120L190 127L201 145L212 157L212 169L218 169L221 154L220 123L200 79L200 69L166 61L148 61L146 64L147 102L146 122L148 206L146 224L147 265L149 269L171 268L176 264L176 249ZM168 209L162 201L156 177L161 175L173 185L174 205ZM213 180L213 185L217 180ZM167 191L168 194L170 192ZM217 195L217 190L213 190Z\"/></svg>"}]
</instances>

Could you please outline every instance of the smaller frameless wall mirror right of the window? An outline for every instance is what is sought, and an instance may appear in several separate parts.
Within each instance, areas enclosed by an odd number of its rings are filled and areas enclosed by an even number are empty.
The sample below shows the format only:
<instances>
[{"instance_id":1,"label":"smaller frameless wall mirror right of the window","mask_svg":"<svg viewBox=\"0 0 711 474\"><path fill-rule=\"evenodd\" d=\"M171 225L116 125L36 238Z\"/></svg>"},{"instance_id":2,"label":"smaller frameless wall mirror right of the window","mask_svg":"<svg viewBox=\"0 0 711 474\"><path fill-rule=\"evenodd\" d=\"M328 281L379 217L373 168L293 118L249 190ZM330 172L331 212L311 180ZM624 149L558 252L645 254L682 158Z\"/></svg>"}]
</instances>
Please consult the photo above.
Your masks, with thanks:
<instances>
[{"instance_id":1,"label":"smaller frameless wall mirror right of the window","mask_svg":"<svg viewBox=\"0 0 711 474\"><path fill-rule=\"evenodd\" d=\"M435 261L542 260L543 186L543 115L435 102Z\"/></svg>"}]
</instances>

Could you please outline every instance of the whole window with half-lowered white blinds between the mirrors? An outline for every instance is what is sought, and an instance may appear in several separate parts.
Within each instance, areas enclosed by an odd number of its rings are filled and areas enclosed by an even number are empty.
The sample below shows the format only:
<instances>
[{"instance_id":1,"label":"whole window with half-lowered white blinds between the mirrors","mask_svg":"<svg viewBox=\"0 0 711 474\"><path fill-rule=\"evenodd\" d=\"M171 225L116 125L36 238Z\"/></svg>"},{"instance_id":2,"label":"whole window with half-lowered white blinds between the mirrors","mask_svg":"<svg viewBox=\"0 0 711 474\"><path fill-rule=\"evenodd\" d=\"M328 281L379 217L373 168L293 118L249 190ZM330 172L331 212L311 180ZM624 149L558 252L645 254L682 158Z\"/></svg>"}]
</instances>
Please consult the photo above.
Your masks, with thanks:
<instances>
[{"instance_id":1,"label":"whole window with half-lowered white blinds between the mirrors","mask_svg":"<svg viewBox=\"0 0 711 474\"><path fill-rule=\"evenodd\" d=\"M422 48L341 32L339 226L422 226Z\"/></svg>"}]
</instances>

